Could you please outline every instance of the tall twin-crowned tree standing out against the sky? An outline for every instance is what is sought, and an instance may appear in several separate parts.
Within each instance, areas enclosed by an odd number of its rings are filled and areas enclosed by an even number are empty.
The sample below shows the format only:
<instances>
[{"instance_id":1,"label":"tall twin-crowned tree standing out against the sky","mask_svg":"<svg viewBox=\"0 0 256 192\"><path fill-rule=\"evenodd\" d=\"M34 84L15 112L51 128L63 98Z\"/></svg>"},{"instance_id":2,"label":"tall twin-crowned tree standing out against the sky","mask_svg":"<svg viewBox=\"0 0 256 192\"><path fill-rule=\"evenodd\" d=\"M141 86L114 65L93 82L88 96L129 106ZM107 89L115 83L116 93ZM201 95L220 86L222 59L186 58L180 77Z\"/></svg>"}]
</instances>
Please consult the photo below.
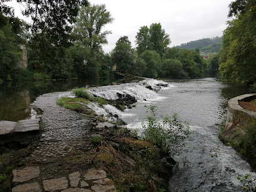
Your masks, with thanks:
<instances>
[{"instance_id":1,"label":"tall twin-crowned tree standing out against the sky","mask_svg":"<svg viewBox=\"0 0 256 192\"><path fill-rule=\"evenodd\" d=\"M152 23L149 28L142 26L136 35L137 53L139 55L145 50L154 50L160 56L163 56L170 43L169 35L165 33L160 23Z\"/></svg>"}]
</instances>

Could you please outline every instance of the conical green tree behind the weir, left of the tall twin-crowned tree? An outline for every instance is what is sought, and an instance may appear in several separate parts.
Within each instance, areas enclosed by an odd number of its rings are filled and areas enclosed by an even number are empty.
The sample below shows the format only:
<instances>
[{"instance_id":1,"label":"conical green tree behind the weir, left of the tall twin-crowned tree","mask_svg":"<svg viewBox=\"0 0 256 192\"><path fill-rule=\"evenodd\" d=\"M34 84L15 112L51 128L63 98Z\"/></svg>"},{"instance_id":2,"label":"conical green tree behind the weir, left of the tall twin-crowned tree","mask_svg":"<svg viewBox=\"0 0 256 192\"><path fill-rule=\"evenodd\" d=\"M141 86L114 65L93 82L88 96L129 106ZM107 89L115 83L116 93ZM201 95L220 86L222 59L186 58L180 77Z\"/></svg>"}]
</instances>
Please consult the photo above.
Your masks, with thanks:
<instances>
[{"instance_id":1,"label":"conical green tree behind the weir, left of the tall twin-crowned tree","mask_svg":"<svg viewBox=\"0 0 256 192\"><path fill-rule=\"evenodd\" d=\"M117 43L115 43L112 61L117 66L117 72L134 75L136 52L132 49L131 41L129 41L127 36L120 37Z\"/></svg>"}]
</instances>

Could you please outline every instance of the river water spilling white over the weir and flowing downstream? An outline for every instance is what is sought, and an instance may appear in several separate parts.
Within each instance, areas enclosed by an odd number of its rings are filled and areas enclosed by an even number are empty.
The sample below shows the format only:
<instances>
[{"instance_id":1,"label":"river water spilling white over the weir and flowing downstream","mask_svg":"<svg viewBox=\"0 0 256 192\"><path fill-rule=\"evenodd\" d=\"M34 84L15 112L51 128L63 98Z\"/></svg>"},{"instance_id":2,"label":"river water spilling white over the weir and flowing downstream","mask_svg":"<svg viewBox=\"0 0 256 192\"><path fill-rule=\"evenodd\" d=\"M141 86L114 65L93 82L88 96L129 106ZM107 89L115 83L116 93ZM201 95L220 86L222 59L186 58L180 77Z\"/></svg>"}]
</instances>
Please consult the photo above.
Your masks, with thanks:
<instances>
[{"instance_id":1,"label":"river water spilling white over the weir and flowing downstream","mask_svg":"<svg viewBox=\"0 0 256 192\"><path fill-rule=\"evenodd\" d=\"M111 112L118 114L129 129L137 129L139 134L147 117L145 105L156 105L159 116L176 112L189 123L193 133L186 141L187 152L174 156L178 167L169 181L170 191L243 191L243 184L237 178L245 174L255 177L255 174L250 173L248 163L232 147L219 141L217 125L225 119L228 99L248 93L248 90L217 82L214 78L169 81L169 87L157 93L145 88L145 85L157 87L157 83L149 80L101 87L92 92L107 99L117 99L117 92L136 97L136 107L125 112Z\"/></svg>"}]
</instances>

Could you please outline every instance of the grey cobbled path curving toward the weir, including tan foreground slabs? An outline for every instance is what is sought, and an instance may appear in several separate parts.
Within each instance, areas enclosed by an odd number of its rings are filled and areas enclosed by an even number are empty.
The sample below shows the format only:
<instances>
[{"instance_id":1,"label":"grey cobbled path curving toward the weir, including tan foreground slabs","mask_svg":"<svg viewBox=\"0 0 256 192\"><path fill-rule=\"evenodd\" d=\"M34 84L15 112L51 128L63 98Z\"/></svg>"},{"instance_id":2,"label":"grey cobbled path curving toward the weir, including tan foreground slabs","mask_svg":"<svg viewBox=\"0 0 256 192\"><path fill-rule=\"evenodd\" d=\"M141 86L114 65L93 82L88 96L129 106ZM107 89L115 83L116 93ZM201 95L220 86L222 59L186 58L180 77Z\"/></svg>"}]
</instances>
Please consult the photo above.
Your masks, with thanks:
<instances>
[{"instance_id":1,"label":"grey cobbled path curving toward the weir, including tan foreground slabs","mask_svg":"<svg viewBox=\"0 0 256 192\"><path fill-rule=\"evenodd\" d=\"M90 151L90 120L80 114L56 105L58 95L63 92L46 93L32 104L43 110L44 125L36 150L22 163L25 168L13 170L12 191L115 191L113 182L103 170L81 169L64 173L61 177L47 178L47 164L58 163L72 151L80 148ZM49 171L50 172L50 171Z\"/></svg>"}]
</instances>

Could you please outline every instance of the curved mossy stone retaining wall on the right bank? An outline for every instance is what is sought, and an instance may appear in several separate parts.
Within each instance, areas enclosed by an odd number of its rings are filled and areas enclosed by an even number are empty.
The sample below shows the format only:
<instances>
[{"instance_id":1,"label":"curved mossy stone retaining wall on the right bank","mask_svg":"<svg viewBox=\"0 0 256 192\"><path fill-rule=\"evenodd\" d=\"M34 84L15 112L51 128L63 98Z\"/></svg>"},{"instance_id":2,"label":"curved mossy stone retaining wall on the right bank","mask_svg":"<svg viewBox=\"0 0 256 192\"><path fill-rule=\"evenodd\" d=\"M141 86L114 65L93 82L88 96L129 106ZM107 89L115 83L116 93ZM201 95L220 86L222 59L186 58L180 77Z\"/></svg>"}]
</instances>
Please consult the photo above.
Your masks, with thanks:
<instances>
[{"instance_id":1,"label":"curved mossy stone retaining wall on the right bank","mask_svg":"<svg viewBox=\"0 0 256 192\"><path fill-rule=\"evenodd\" d=\"M252 138L249 129L256 124L256 112L243 109L239 102L247 102L255 98L256 94L245 94L228 100L227 121L220 134L220 140L239 151L252 169L256 169L255 157L252 157L255 156L256 147L250 144Z\"/></svg>"}]
</instances>

